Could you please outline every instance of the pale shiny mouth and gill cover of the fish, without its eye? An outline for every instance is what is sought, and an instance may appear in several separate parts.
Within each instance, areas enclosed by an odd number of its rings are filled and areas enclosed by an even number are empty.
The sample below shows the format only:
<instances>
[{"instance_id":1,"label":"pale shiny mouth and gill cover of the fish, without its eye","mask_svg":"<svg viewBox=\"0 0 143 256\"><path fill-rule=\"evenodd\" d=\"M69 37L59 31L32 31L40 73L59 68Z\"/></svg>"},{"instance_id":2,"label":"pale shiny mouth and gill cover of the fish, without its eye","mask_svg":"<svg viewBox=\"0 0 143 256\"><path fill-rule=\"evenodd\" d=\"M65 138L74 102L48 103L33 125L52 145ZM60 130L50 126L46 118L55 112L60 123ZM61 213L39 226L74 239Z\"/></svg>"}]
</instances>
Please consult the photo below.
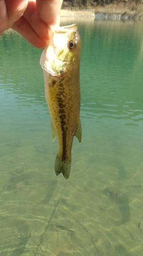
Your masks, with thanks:
<instances>
[{"instance_id":1,"label":"pale shiny mouth and gill cover of the fish, without its eye","mask_svg":"<svg viewBox=\"0 0 143 256\"><path fill-rule=\"evenodd\" d=\"M61 78L71 71L73 52L68 48L69 37L74 37L77 25L59 27L50 26L51 40L48 41L40 58L40 65L47 73L55 78ZM62 40L61 38L62 34ZM58 44L57 44L58 42ZM56 46L57 45L57 46Z\"/></svg>"}]
</instances>

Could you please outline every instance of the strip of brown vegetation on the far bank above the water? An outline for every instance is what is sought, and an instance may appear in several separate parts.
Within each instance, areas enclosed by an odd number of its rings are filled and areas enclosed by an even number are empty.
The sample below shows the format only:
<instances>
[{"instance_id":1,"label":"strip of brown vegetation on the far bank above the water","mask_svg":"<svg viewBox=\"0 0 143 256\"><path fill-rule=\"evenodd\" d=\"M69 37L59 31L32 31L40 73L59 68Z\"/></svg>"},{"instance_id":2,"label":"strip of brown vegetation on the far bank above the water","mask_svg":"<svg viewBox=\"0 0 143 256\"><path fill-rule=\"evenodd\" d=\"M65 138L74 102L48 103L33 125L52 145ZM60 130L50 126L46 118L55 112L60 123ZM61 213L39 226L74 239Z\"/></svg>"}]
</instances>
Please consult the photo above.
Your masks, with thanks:
<instances>
[{"instance_id":1,"label":"strip of brown vegetation on the far bank above the water","mask_svg":"<svg viewBox=\"0 0 143 256\"><path fill-rule=\"evenodd\" d=\"M143 0L63 0L62 9L71 10L74 9L91 9L97 6L107 6L113 4L116 5L126 5L130 10L136 9L139 5L143 5Z\"/></svg>"}]
</instances>

